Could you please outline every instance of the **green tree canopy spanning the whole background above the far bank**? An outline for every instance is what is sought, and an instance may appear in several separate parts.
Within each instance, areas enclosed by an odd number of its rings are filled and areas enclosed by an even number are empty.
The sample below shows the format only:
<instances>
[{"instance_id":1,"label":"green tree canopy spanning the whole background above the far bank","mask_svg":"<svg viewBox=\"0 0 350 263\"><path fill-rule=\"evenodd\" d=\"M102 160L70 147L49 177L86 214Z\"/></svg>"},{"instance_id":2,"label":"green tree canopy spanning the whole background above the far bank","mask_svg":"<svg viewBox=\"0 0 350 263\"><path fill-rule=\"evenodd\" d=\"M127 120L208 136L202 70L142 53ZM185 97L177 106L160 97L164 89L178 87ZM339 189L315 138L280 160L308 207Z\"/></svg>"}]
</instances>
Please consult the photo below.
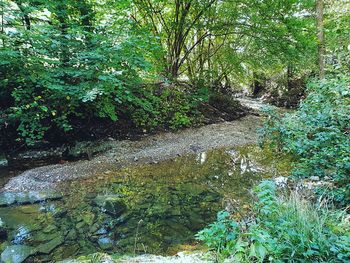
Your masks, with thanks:
<instances>
[{"instance_id":1,"label":"green tree canopy spanning the whole background above the far bank","mask_svg":"<svg viewBox=\"0 0 350 263\"><path fill-rule=\"evenodd\" d=\"M339 70L349 13L326 4L326 58ZM26 144L52 129L69 135L77 120L187 126L205 89L258 92L276 76L293 86L317 74L313 0L3 0L0 12L1 129ZM183 82L191 89L170 91L177 102L148 86Z\"/></svg>"}]
</instances>

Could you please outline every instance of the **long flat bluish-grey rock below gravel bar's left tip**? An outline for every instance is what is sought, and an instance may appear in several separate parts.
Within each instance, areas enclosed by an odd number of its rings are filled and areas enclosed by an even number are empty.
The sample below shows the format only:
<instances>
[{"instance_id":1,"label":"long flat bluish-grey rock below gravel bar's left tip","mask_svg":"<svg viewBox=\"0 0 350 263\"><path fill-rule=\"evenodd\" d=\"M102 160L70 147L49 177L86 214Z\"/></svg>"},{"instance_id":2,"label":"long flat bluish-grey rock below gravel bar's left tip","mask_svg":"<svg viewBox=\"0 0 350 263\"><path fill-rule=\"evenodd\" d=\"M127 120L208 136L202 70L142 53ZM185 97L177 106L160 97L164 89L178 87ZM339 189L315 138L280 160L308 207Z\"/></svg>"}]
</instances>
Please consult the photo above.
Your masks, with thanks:
<instances>
[{"instance_id":1,"label":"long flat bluish-grey rock below gravel bar's left tip","mask_svg":"<svg viewBox=\"0 0 350 263\"><path fill-rule=\"evenodd\" d=\"M24 193L5 192L0 194L0 207L11 205L26 205L43 202L46 200L59 200L63 196L54 191L37 192L30 191Z\"/></svg>"}]
</instances>

